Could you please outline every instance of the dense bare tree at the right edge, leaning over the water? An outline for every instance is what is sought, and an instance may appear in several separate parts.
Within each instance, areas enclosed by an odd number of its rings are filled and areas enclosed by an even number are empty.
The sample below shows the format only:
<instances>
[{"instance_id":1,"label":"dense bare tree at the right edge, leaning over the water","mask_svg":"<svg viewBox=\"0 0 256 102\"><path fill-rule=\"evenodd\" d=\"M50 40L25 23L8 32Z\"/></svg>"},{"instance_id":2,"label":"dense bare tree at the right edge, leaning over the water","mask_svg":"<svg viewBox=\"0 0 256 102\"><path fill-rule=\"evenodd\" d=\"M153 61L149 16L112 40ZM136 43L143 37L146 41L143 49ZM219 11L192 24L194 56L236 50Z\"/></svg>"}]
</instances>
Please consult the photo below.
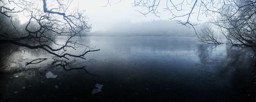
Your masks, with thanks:
<instances>
[{"instance_id":1,"label":"dense bare tree at the right edge, leaning over the water","mask_svg":"<svg viewBox=\"0 0 256 102\"><path fill-rule=\"evenodd\" d=\"M252 11L255 10L255 2L240 1L237 5L239 10L236 14L227 13L231 7L227 8L223 10L226 15L219 18L222 22L214 23L221 28L229 44L256 46L256 13Z\"/></svg>"}]
</instances>

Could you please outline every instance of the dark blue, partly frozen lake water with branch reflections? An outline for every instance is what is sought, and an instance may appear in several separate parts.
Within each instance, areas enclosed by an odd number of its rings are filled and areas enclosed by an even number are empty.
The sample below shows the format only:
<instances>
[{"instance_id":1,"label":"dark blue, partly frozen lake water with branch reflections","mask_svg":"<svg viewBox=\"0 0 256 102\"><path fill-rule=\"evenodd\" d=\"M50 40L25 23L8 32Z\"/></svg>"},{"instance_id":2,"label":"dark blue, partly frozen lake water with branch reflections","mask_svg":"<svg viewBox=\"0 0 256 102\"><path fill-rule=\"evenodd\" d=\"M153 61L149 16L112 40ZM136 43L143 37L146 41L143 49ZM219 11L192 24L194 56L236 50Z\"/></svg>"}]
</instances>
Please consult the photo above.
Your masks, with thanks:
<instances>
[{"instance_id":1,"label":"dark blue, partly frozen lake water with branch reflections","mask_svg":"<svg viewBox=\"0 0 256 102\"><path fill-rule=\"evenodd\" d=\"M63 42L66 38L57 40ZM73 40L101 49L88 53L87 60L67 60L70 64L66 68L86 65L87 72L83 69L66 71L52 64L52 56L40 49L18 46L2 49L1 101L249 102L252 99L247 95L254 60L251 48L202 44L188 37L82 37ZM1 47L8 46L12 45ZM83 51L78 49L72 53ZM37 58L48 59L25 65ZM46 78L49 71L57 77ZM101 92L95 84L101 87ZM92 94L94 88L98 93Z\"/></svg>"}]
</instances>

